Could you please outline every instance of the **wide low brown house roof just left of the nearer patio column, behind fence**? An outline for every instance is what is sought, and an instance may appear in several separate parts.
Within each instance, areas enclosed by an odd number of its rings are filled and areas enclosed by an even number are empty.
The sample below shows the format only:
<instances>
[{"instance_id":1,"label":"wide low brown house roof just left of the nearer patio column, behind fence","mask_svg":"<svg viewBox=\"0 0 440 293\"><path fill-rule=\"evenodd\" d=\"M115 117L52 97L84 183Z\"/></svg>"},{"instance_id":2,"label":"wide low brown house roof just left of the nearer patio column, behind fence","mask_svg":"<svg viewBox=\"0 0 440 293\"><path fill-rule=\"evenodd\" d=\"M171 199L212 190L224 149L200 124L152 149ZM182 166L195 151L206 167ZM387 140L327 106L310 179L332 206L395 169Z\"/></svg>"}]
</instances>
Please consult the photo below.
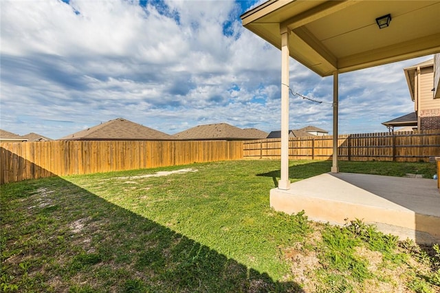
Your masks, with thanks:
<instances>
[{"instance_id":1,"label":"wide low brown house roof just left of the nearer patio column, behind fence","mask_svg":"<svg viewBox=\"0 0 440 293\"><path fill-rule=\"evenodd\" d=\"M173 135L180 140L257 140L265 138L258 129L241 129L228 123L198 125Z\"/></svg>"}]
</instances>

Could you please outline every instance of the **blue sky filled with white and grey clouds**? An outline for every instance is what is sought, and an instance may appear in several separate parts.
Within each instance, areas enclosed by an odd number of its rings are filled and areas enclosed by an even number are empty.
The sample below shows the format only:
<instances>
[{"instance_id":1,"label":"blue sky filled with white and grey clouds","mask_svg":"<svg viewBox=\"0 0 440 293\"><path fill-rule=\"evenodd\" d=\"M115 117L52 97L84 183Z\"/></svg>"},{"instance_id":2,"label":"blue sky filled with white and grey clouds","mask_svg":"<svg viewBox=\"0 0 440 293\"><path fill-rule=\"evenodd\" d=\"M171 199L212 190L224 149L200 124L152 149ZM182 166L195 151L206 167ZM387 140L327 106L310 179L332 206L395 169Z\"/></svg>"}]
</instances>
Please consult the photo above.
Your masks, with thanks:
<instances>
[{"instance_id":1,"label":"blue sky filled with white and grey clouds","mask_svg":"<svg viewBox=\"0 0 440 293\"><path fill-rule=\"evenodd\" d=\"M126 118L168 134L226 122L280 129L281 52L241 25L258 1L0 1L0 128L61 138ZM340 133L413 111L403 68L340 75ZM290 86L324 102L332 78L293 59ZM332 109L290 99L290 128L331 132Z\"/></svg>"}]
</instances>

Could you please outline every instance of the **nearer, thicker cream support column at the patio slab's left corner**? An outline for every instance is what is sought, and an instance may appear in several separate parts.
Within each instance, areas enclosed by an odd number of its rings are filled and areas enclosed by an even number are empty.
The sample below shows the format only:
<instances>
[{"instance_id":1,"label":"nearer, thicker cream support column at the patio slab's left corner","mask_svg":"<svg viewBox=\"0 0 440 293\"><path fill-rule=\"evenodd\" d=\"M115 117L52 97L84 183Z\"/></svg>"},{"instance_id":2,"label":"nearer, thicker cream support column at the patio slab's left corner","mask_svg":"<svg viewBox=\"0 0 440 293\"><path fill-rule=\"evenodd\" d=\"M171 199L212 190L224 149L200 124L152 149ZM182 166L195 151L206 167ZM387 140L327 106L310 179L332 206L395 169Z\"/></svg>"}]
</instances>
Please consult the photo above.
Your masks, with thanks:
<instances>
[{"instance_id":1,"label":"nearer, thicker cream support column at the patio slab's left corner","mask_svg":"<svg viewBox=\"0 0 440 293\"><path fill-rule=\"evenodd\" d=\"M289 30L281 34L281 179L278 188L290 189L289 180Z\"/></svg>"}]
</instances>

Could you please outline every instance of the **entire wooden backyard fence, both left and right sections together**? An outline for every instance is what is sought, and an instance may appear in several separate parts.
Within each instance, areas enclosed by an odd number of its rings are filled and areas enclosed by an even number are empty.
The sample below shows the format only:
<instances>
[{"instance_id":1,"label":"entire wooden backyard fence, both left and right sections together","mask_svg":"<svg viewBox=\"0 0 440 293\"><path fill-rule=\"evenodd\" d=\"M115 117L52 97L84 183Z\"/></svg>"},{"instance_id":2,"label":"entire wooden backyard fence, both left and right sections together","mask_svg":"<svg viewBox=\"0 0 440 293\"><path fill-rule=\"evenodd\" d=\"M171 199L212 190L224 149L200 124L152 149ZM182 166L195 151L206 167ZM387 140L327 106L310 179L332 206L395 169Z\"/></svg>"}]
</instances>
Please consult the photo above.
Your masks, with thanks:
<instances>
[{"instance_id":1,"label":"entire wooden backyard fence, both left and right sections together","mask_svg":"<svg viewBox=\"0 0 440 293\"><path fill-rule=\"evenodd\" d=\"M289 159L330 160L333 137L289 139ZM338 158L428 162L440 157L440 130L338 136ZM54 175L177 166L194 162L280 159L281 140L63 141L0 144L0 184Z\"/></svg>"}]
</instances>

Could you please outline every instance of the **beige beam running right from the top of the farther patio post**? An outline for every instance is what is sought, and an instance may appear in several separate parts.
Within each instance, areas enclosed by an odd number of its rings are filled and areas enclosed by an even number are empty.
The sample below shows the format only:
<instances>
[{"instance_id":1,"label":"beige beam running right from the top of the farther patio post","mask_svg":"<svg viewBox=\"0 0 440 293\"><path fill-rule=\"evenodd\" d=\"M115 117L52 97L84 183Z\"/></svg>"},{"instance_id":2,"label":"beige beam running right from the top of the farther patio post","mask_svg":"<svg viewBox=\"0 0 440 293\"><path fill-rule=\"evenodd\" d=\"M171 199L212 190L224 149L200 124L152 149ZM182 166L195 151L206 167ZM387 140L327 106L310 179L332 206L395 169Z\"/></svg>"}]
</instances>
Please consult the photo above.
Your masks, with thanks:
<instances>
[{"instance_id":1,"label":"beige beam running right from the top of the farther patio post","mask_svg":"<svg viewBox=\"0 0 440 293\"><path fill-rule=\"evenodd\" d=\"M379 50L372 50L339 58L341 73L364 69L386 63L404 61L440 52L440 34L423 36L419 39L398 43Z\"/></svg>"}]
</instances>

